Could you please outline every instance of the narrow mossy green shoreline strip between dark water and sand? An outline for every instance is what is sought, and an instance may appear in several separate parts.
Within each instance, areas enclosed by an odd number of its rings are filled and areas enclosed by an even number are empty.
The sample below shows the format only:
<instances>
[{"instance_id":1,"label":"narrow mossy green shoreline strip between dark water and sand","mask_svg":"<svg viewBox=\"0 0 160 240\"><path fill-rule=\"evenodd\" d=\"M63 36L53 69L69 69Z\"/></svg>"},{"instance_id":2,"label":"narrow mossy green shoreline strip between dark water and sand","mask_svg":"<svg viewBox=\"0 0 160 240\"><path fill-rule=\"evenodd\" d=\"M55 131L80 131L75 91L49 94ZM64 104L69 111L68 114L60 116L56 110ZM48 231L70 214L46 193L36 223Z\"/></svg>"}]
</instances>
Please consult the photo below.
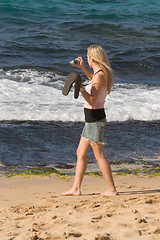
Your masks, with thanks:
<instances>
[{"instance_id":1,"label":"narrow mossy green shoreline strip between dark water and sand","mask_svg":"<svg viewBox=\"0 0 160 240\"><path fill-rule=\"evenodd\" d=\"M160 156L150 159L144 158L142 160L129 163L125 160L118 163L110 163L112 172L117 175L148 175L148 176L160 176ZM5 166L0 162L0 176L12 177L16 175L37 175L37 176L51 176L57 174L60 176L74 175L74 164L64 164L62 166L49 165L49 166ZM88 163L86 175L99 175L101 171L97 163Z\"/></svg>"}]
</instances>

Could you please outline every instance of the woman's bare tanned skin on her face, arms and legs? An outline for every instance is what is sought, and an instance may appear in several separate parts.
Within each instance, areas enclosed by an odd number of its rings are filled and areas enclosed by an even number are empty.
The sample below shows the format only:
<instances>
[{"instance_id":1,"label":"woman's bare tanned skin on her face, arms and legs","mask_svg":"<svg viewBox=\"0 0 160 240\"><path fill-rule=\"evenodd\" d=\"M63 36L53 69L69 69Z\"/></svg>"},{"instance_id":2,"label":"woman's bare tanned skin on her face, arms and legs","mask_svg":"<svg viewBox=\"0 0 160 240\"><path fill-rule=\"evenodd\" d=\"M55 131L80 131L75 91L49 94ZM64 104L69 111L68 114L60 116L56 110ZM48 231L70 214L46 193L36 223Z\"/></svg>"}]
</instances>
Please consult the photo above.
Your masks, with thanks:
<instances>
[{"instance_id":1,"label":"woman's bare tanned skin on her face, arms and legs","mask_svg":"<svg viewBox=\"0 0 160 240\"><path fill-rule=\"evenodd\" d=\"M101 88L107 86L107 79L104 73L98 72L97 74L92 74L84 65L82 57L78 57L76 60L79 61L79 65L74 65L75 67L81 68L86 76L91 79L93 84L91 94L89 94L83 86L81 87L81 94L83 98L90 104L94 105L96 99L98 97L99 91ZM93 72L96 73L100 67L99 65L87 54L87 60L89 66L93 69ZM105 157L103 144L89 142L85 137L81 137L79 146L77 148L77 165L76 165L76 173L74 183L71 189L68 191L61 193L62 196L79 196L81 195L81 184L84 177L84 174L87 169L87 152L89 148L92 148L94 156L99 164L101 172L104 176L104 179L107 183L107 189L101 195L106 196L115 196L117 195L117 191L113 182L112 171L110 165Z\"/></svg>"}]
</instances>

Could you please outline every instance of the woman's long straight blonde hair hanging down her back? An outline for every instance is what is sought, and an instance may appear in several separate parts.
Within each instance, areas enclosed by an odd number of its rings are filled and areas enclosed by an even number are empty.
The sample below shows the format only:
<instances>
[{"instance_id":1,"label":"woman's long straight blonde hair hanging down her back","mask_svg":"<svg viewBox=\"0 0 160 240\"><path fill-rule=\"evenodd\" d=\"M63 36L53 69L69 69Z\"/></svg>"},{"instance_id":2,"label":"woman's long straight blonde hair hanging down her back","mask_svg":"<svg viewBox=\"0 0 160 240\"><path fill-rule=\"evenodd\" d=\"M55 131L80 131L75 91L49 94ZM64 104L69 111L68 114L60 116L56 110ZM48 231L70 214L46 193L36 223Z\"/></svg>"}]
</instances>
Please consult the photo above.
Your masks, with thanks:
<instances>
[{"instance_id":1,"label":"woman's long straight blonde hair hanging down her back","mask_svg":"<svg viewBox=\"0 0 160 240\"><path fill-rule=\"evenodd\" d=\"M107 93L109 94L113 85L112 68L105 50L99 45L91 45L87 48L88 55L99 65L107 78Z\"/></svg>"}]
</instances>

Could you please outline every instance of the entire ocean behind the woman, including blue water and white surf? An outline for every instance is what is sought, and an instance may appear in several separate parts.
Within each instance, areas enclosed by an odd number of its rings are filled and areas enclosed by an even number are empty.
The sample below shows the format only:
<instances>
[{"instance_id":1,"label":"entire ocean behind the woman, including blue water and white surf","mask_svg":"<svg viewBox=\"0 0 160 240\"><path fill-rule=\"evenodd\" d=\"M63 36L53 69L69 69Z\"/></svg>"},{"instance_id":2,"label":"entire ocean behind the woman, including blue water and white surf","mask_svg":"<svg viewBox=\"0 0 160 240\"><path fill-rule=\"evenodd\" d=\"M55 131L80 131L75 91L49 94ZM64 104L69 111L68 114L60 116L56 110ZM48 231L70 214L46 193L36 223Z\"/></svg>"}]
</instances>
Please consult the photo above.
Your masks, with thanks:
<instances>
[{"instance_id":1,"label":"entire ocean behind the woman, including blue water and white surf","mask_svg":"<svg viewBox=\"0 0 160 240\"><path fill-rule=\"evenodd\" d=\"M105 111L111 164L160 155L160 2L0 2L0 172L75 166L83 98L62 95L69 62L91 44L107 52L114 85ZM83 79L87 79L83 76ZM94 164L88 153L88 167ZM156 165L160 166L160 161Z\"/></svg>"}]
</instances>

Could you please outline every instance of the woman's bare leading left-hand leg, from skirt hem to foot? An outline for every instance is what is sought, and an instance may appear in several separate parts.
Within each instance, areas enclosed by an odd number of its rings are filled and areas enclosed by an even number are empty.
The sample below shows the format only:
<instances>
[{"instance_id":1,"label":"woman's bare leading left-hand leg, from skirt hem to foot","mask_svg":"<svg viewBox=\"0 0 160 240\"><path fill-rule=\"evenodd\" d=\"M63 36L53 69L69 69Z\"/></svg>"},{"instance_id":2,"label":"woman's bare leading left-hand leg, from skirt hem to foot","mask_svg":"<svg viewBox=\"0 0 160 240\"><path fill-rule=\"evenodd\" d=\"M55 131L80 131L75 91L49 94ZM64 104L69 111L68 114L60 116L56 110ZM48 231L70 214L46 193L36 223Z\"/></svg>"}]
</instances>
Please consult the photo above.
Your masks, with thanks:
<instances>
[{"instance_id":1,"label":"woman's bare leading left-hand leg, from skirt hem to foot","mask_svg":"<svg viewBox=\"0 0 160 240\"><path fill-rule=\"evenodd\" d=\"M77 148L77 165L73 187L69 191L61 193L61 195L81 195L81 183L87 169L87 152L89 148L90 143L88 142L88 140L84 137L81 137L79 146Z\"/></svg>"}]
</instances>

